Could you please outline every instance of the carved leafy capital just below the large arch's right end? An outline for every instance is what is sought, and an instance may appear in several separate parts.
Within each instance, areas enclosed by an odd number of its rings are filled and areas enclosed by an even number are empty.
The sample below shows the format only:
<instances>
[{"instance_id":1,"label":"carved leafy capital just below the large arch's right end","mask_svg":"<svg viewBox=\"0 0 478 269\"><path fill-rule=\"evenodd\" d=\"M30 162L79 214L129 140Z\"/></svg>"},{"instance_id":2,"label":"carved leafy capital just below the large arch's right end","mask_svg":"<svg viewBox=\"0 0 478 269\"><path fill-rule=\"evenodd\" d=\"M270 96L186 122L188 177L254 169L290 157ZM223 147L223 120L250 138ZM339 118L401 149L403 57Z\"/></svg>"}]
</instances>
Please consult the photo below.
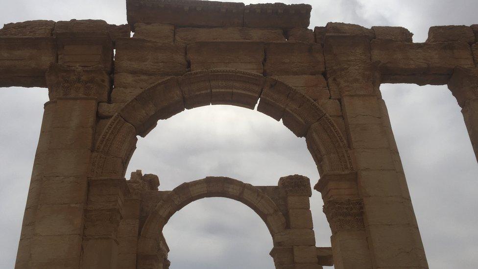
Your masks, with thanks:
<instances>
[{"instance_id":1,"label":"carved leafy capital just below the large arch's right end","mask_svg":"<svg viewBox=\"0 0 478 269\"><path fill-rule=\"evenodd\" d=\"M323 211L333 234L341 230L364 229L361 199L329 200Z\"/></svg>"}]
</instances>

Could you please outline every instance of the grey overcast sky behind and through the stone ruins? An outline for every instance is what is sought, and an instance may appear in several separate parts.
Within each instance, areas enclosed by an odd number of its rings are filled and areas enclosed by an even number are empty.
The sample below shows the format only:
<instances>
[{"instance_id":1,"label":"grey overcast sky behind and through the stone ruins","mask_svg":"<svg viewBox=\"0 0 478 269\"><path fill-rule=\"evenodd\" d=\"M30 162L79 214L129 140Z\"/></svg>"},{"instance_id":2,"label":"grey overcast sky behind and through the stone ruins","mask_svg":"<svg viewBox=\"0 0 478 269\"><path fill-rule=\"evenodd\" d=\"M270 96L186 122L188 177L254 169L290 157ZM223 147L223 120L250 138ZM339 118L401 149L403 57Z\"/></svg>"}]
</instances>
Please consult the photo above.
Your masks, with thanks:
<instances>
[{"instance_id":1,"label":"grey overcast sky behind and through the stone ruins","mask_svg":"<svg viewBox=\"0 0 478 269\"><path fill-rule=\"evenodd\" d=\"M247 1L258 3L268 1ZM299 3L303 1L284 1ZM327 22L405 26L415 42L432 25L478 24L476 0L309 0L311 28ZM126 23L124 0L0 1L0 25L48 19ZM460 108L446 86L382 85L430 268L478 268L478 165ZM0 268L13 268L47 89L0 88ZM140 139L129 173L155 173L162 190L208 175L253 185L281 176L318 180L304 139L243 108L209 106L161 121ZM311 198L317 246L331 231L320 194ZM263 221L224 198L191 203L167 223L171 269L272 269Z\"/></svg>"}]
</instances>

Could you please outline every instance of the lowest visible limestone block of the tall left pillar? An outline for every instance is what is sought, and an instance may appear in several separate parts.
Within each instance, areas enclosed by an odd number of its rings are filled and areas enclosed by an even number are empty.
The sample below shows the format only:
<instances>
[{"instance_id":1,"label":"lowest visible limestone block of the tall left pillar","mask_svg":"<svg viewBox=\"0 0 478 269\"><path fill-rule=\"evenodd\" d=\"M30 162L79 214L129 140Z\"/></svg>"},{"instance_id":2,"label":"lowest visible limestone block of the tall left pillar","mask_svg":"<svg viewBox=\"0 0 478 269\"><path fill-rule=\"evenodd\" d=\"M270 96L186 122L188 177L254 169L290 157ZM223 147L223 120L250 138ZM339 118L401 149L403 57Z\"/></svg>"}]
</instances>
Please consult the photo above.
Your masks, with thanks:
<instances>
[{"instance_id":1,"label":"lowest visible limestone block of the tall left pillar","mask_svg":"<svg viewBox=\"0 0 478 269\"><path fill-rule=\"evenodd\" d=\"M32 240L31 264L34 268L77 268L81 235L36 236Z\"/></svg>"}]
</instances>

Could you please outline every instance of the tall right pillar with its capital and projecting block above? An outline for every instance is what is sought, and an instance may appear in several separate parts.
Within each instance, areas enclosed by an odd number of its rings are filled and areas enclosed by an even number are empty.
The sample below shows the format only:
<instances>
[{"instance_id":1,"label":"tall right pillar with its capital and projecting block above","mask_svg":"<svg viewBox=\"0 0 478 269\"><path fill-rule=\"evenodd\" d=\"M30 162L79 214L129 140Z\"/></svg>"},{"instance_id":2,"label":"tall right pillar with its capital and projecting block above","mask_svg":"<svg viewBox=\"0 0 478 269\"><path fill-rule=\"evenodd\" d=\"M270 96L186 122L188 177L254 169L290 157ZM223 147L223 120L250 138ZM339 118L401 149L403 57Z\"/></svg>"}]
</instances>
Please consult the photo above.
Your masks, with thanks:
<instances>
[{"instance_id":1,"label":"tall right pillar with its capital and projecting block above","mask_svg":"<svg viewBox=\"0 0 478 269\"><path fill-rule=\"evenodd\" d=\"M329 87L340 93L349 147L358 173L361 201L351 200L350 206L363 204L372 268L428 268L400 156L380 96L379 73L370 60L370 37L326 34L324 51Z\"/></svg>"}]
</instances>

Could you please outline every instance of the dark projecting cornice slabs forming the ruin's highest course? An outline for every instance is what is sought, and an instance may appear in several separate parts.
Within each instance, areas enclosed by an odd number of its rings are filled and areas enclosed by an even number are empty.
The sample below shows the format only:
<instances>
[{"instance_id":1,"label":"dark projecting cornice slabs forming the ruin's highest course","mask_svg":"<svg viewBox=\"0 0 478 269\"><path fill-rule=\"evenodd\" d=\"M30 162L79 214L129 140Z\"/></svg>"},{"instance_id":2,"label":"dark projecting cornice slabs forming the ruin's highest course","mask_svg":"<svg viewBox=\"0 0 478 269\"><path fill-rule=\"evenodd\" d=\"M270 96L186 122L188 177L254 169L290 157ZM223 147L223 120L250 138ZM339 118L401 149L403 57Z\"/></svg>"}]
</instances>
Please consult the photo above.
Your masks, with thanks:
<instances>
[{"instance_id":1,"label":"dark projecting cornice slabs forming the ruin's highest course","mask_svg":"<svg viewBox=\"0 0 478 269\"><path fill-rule=\"evenodd\" d=\"M251 4L199 0L126 0L128 24L174 24L178 27L308 27L311 5Z\"/></svg>"}]
</instances>

